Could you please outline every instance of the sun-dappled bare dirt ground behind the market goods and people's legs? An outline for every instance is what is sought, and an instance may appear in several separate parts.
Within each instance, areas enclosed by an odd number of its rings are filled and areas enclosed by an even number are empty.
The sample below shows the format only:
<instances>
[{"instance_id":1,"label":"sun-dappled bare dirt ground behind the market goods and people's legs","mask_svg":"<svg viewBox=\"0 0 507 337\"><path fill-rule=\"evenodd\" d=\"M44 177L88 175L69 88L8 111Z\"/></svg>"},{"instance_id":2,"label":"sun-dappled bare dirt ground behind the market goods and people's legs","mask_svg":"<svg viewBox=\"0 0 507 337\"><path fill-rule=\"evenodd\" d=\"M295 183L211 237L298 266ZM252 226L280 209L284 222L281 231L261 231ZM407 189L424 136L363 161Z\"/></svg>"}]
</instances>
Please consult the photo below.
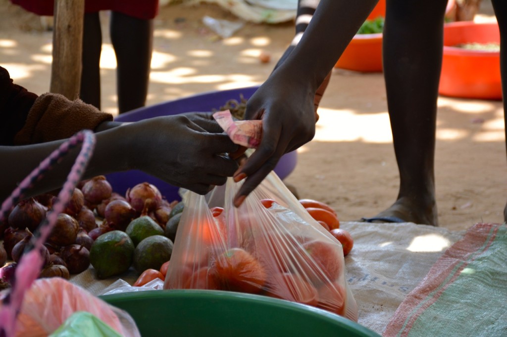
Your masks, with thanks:
<instances>
[{"instance_id":1,"label":"sun-dappled bare dirt ground behind the market goods and people's legs","mask_svg":"<svg viewBox=\"0 0 507 337\"><path fill-rule=\"evenodd\" d=\"M476 20L492 20L483 1ZM221 39L203 16L238 21L202 4L161 8L155 22L148 104L258 85L270 74L294 34L294 23L246 23ZM116 114L116 62L102 13L102 110ZM0 64L30 91L49 91L52 32L45 20L0 0ZM271 62L261 63L261 51ZM285 180L299 196L333 206L341 221L374 216L394 202L398 172L392 148L382 73L335 69L320 105L315 139L298 151ZM503 222L506 162L500 101L441 97L436 149L437 202L441 227L466 229ZM503 192L502 192L503 191Z\"/></svg>"}]
</instances>

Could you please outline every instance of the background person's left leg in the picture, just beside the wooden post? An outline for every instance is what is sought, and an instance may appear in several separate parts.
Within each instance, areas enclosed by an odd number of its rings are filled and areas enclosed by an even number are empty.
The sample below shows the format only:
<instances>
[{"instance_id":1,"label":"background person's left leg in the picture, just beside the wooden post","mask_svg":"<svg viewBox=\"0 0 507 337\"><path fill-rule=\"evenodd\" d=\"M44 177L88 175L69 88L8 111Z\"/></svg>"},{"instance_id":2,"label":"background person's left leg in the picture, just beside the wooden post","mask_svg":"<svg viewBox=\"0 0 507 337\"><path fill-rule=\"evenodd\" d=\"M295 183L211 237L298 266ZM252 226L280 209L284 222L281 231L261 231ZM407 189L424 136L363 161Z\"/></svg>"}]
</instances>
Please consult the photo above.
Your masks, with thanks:
<instances>
[{"instance_id":1,"label":"background person's left leg in the picture, just beside the wooden post","mask_svg":"<svg viewBox=\"0 0 507 337\"><path fill-rule=\"evenodd\" d=\"M86 13L83 24L83 70L80 98L100 109L100 51L102 31L97 13Z\"/></svg>"}]
</instances>

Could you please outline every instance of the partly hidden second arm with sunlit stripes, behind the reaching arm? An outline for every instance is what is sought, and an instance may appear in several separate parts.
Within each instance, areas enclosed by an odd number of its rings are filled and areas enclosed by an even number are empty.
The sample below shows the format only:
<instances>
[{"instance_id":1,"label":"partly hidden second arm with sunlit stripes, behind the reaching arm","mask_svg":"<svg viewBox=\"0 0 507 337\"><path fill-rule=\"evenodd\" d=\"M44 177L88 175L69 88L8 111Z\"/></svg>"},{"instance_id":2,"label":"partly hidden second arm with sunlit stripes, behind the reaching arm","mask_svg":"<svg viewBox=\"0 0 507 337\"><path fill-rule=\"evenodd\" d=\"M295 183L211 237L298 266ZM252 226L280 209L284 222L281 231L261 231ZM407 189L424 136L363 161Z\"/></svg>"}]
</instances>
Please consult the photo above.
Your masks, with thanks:
<instances>
[{"instance_id":1,"label":"partly hidden second arm with sunlit stripes, behind the reaching arm","mask_svg":"<svg viewBox=\"0 0 507 337\"><path fill-rule=\"evenodd\" d=\"M301 39L301 36L303 36L306 27L308 27L308 24L310 23L310 20L313 17L313 14L315 13L319 2L320 0L298 0L298 12L296 14L296 35L294 36L291 45L287 47L282 57L276 63L274 69L278 68L278 66L280 66L280 64L285 61L285 59L291 54L293 49L299 43L299 40ZM322 99L322 95L324 95L325 89L328 87L330 78L331 72L324 78L324 81L315 93L315 113L317 112L317 108L320 104L320 100ZM318 115L316 115L316 117L318 118Z\"/></svg>"}]
</instances>

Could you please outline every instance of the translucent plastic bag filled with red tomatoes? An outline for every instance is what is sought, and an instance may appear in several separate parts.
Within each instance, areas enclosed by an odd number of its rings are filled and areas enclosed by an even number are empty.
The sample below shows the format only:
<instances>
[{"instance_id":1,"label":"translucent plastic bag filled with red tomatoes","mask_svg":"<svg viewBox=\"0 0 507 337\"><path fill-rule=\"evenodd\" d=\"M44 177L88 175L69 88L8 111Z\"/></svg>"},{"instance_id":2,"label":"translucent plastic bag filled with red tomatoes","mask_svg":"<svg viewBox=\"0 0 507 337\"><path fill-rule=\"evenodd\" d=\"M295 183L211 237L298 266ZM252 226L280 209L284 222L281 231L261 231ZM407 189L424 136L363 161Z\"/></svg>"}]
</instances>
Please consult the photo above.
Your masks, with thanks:
<instances>
[{"instance_id":1,"label":"translucent plastic bag filled with red tomatoes","mask_svg":"<svg viewBox=\"0 0 507 337\"><path fill-rule=\"evenodd\" d=\"M225 192L213 191L211 208L205 196L187 192L164 288L261 294L357 321L341 243L275 173L236 208L241 184L229 178L216 187Z\"/></svg>"}]
</instances>

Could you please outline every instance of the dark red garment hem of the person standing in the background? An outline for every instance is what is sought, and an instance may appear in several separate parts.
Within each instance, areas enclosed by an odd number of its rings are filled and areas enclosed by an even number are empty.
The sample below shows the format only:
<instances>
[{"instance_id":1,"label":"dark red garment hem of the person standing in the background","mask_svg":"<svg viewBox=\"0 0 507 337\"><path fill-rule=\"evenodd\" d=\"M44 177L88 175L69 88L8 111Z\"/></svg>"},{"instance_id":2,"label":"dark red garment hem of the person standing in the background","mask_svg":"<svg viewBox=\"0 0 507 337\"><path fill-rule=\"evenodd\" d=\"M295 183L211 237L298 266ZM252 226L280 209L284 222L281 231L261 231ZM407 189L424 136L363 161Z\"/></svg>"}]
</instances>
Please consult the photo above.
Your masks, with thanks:
<instances>
[{"instance_id":1,"label":"dark red garment hem of the person standing in the background","mask_svg":"<svg viewBox=\"0 0 507 337\"><path fill-rule=\"evenodd\" d=\"M11 0L15 5L38 15L53 16L54 0ZM138 19L153 19L158 14L158 0L86 0L85 13L115 11Z\"/></svg>"}]
</instances>

